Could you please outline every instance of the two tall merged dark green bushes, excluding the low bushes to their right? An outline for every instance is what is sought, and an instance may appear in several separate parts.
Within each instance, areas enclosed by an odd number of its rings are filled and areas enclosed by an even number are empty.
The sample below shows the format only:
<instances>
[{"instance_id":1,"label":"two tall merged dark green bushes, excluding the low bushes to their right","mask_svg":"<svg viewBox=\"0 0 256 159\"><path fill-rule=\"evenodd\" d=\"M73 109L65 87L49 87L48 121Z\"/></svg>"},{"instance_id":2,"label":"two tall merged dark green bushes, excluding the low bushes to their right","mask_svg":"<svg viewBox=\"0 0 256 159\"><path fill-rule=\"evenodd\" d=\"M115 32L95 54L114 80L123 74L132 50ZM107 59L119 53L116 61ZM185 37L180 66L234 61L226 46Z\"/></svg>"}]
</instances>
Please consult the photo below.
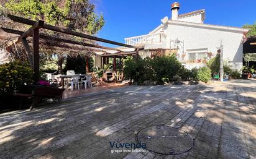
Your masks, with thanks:
<instances>
[{"instance_id":1,"label":"two tall merged dark green bushes, excluding the low bushes to their right","mask_svg":"<svg viewBox=\"0 0 256 159\"><path fill-rule=\"evenodd\" d=\"M137 84L143 84L146 80L155 81L157 84L170 82L180 69L181 64L175 56L145 58L138 61L128 57L124 61L124 75Z\"/></svg>"}]
</instances>

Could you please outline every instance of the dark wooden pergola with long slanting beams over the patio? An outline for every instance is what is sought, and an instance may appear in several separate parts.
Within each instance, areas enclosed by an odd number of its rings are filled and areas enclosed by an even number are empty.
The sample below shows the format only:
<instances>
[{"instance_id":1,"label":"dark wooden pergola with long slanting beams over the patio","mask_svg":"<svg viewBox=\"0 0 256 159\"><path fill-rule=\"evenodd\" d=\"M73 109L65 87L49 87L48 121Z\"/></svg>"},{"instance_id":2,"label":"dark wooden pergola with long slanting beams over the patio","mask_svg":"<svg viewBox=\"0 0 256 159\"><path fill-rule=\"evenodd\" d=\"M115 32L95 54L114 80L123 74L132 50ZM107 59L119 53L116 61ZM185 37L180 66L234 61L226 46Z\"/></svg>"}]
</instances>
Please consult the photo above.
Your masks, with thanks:
<instances>
[{"instance_id":1,"label":"dark wooden pergola with long slanting beams over the patio","mask_svg":"<svg viewBox=\"0 0 256 159\"><path fill-rule=\"evenodd\" d=\"M121 51L120 49L117 49L117 48L109 48L109 47L105 47L105 46L94 45L91 43L84 43L84 42L80 42L80 41L73 41L73 40L68 40L68 39L63 39L63 38L55 38L55 37L51 37L48 35L43 35L39 32L40 28L43 28L46 30L52 30L53 32L65 33L67 35L72 35L75 37L85 38L87 40L101 41L103 43L109 43L112 45L124 46L127 48L134 48L135 56L139 57L139 48L137 48L136 46L126 45L124 43L119 43L116 41L106 40L104 38L94 37L91 35L87 35L85 33L78 33L73 30L68 30L67 28L55 27L52 25L45 24L45 22L42 20L34 21L34 20L24 19L22 17L17 17L15 15L10 15L10 14L8 14L7 17L9 17L9 19L13 20L14 22L31 25L31 27L25 32L22 32L20 30L13 30L10 28L4 28L4 27L2 27L2 30L7 33L14 33L14 34L19 35L19 37L17 37L16 40L10 41L7 44L6 49L7 49L7 51L10 51L10 49L13 45L16 45L17 43L22 43L22 45L25 48L25 53L27 54L27 58L29 59L29 62L34 70L34 77L35 77L34 81L35 82L39 81L40 38L43 39L44 41L46 40L46 42L44 42L43 45L49 45L51 48L58 47L58 48L78 49L78 50L84 49L84 48L77 47L77 46L60 44L60 43L67 43L67 44L71 44L71 45L85 46L86 49L90 49L91 51L101 51L104 53L101 58L101 60L103 61L102 62L103 64L106 64L106 57L109 57L109 56L114 56L114 59L116 59L116 56L124 56L127 54L134 54L134 52L124 53L124 51ZM32 37L32 50L30 50L29 42L27 40L28 37ZM47 40L48 40L48 42L47 42ZM55 43L52 43L52 41L55 41ZM96 49L92 49L92 48L96 48ZM118 51L118 52L116 54L107 54L106 51L104 51L104 50L114 50L114 51ZM88 60L88 58L86 58L86 61L87 60ZM86 62L86 63L88 64L88 62Z\"/></svg>"}]
</instances>

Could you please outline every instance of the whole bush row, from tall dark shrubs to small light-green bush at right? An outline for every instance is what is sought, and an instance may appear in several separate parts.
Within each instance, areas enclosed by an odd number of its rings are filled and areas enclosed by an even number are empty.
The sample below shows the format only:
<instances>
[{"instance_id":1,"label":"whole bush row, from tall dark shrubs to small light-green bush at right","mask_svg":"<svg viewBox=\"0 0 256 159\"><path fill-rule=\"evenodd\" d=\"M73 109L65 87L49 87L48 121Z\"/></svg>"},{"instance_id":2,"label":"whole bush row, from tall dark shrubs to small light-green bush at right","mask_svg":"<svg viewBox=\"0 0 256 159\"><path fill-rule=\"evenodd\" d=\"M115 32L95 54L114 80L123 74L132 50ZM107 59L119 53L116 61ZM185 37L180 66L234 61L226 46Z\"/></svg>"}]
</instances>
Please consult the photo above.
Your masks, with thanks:
<instances>
[{"instance_id":1,"label":"whole bush row, from tall dark shrubs to small light-green bush at right","mask_svg":"<svg viewBox=\"0 0 256 159\"><path fill-rule=\"evenodd\" d=\"M211 80L211 69L201 67L190 70L181 67L175 56L163 56L155 59L135 60L129 56L124 61L124 75L136 84L149 80L156 84L165 84L176 80L201 80L207 83Z\"/></svg>"}]
</instances>

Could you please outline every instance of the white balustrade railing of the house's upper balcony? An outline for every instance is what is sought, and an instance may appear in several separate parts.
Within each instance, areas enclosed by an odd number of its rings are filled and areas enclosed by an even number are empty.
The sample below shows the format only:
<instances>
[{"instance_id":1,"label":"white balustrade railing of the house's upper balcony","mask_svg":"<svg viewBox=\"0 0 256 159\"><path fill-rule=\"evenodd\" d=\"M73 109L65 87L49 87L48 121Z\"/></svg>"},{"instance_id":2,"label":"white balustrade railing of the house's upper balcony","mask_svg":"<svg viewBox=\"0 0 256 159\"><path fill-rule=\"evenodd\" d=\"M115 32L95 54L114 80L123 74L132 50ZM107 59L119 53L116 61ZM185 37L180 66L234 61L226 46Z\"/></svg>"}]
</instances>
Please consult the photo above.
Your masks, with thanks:
<instances>
[{"instance_id":1,"label":"white balustrade railing of the house's upper balcony","mask_svg":"<svg viewBox=\"0 0 256 159\"><path fill-rule=\"evenodd\" d=\"M162 45L166 41L166 35L163 33L152 33L137 37L125 38L127 45L142 46L147 44Z\"/></svg>"}]
</instances>

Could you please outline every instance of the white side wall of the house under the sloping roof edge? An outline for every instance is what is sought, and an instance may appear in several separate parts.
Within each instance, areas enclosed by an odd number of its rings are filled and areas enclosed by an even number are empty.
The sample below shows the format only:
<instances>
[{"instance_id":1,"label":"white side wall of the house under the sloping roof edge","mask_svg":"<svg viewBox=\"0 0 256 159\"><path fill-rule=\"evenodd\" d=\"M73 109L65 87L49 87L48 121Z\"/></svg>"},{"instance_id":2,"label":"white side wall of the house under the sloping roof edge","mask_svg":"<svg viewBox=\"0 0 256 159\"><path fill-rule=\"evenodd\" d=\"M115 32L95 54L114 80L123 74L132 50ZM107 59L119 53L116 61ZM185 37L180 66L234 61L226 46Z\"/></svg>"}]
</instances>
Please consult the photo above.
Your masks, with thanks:
<instances>
[{"instance_id":1,"label":"white side wall of the house under the sloping roof edge","mask_svg":"<svg viewBox=\"0 0 256 159\"><path fill-rule=\"evenodd\" d=\"M208 48L214 56L216 55L217 47L224 46L224 60L227 60L240 70L242 67L242 33L227 32L227 30L204 27L191 27L183 24L168 24L167 41L175 40L183 41L186 49ZM170 43L167 43L167 48L170 48ZM188 57L188 55L186 55Z\"/></svg>"}]
</instances>

